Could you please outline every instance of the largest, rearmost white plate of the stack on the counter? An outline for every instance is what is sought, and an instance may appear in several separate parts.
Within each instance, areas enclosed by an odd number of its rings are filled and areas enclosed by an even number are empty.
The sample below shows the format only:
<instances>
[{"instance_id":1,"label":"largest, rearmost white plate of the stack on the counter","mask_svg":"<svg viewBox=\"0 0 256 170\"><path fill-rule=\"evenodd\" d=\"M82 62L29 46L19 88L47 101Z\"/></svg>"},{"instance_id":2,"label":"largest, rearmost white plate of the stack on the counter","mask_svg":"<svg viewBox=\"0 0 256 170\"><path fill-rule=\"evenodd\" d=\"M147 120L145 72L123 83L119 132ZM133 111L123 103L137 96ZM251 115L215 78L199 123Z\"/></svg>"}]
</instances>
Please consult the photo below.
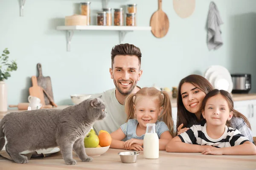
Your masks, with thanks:
<instances>
[{"instance_id":1,"label":"largest, rearmost white plate of the stack on the counter","mask_svg":"<svg viewBox=\"0 0 256 170\"><path fill-rule=\"evenodd\" d=\"M218 74L215 72L217 72ZM221 65L212 65L206 70L204 77L212 84L212 86L214 86L217 75L221 75L224 79L227 80L227 82L229 83L227 91L231 93L233 90L233 82L230 72L227 70L227 68L224 68Z\"/></svg>"}]
</instances>

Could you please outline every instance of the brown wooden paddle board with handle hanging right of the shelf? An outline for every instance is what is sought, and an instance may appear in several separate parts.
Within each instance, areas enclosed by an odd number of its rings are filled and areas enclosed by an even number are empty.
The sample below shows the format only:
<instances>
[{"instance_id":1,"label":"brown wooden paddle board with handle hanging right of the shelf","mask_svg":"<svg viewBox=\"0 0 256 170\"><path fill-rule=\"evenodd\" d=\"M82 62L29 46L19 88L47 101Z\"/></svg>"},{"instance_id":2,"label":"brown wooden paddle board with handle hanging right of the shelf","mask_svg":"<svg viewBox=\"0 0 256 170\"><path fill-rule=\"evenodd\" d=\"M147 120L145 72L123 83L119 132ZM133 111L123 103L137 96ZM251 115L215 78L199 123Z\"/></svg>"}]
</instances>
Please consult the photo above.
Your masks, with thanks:
<instances>
[{"instance_id":1,"label":"brown wooden paddle board with handle hanging right of the shelf","mask_svg":"<svg viewBox=\"0 0 256 170\"><path fill-rule=\"evenodd\" d=\"M169 30L169 19L162 10L162 0L158 0L158 10L152 15L150 26L152 34L157 38L164 37Z\"/></svg>"}]
</instances>

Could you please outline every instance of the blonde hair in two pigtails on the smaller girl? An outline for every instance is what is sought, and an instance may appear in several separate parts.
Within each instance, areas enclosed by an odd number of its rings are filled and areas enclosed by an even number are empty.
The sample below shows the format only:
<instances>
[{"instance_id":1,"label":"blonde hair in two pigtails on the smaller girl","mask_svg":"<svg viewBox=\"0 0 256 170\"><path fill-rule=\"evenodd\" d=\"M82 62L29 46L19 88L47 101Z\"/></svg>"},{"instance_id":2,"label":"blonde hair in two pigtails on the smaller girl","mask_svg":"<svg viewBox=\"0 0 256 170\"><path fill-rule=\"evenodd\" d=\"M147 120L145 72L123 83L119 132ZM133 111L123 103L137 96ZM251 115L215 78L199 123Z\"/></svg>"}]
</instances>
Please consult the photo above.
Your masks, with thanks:
<instances>
[{"instance_id":1,"label":"blonde hair in two pigtails on the smaller girl","mask_svg":"<svg viewBox=\"0 0 256 170\"><path fill-rule=\"evenodd\" d=\"M163 94L163 96L162 96ZM174 135L173 120L172 120L172 105L169 94L166 91L159 91L156 88L142 88L136 94L129 94L125 99L125 112L127 113L126 122L129 119L136 119L133 105L136 105L143 97L155 97L160 106L163 106L163 111L158 117L158 121L163 121L168 126L172 136Z\"/></svg>"}]
</instances>

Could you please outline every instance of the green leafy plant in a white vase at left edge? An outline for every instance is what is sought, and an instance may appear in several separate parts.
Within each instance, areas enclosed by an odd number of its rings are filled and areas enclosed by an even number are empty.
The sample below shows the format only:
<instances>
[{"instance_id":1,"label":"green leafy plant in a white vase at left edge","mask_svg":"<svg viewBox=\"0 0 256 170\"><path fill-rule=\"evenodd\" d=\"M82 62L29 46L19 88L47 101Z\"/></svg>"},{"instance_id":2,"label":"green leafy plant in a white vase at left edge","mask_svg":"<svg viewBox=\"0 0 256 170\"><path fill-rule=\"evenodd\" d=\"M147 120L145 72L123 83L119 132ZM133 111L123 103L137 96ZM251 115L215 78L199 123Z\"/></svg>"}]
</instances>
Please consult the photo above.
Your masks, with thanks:
<instances>
[{"instance_id":1,"label":"green leafy plant in a white vase at left edge","mask_svg":"<svg viewBox=\"0 0 256 170\"><path fill-rule=\"evenodd\" d=\"M17 70L17 63L13 60L9 62L9 54L8 48L5 48L0 55L0 112L7 111L7 88L4 80L11 77L11 71Z\"/></svg>"}]
</instances>

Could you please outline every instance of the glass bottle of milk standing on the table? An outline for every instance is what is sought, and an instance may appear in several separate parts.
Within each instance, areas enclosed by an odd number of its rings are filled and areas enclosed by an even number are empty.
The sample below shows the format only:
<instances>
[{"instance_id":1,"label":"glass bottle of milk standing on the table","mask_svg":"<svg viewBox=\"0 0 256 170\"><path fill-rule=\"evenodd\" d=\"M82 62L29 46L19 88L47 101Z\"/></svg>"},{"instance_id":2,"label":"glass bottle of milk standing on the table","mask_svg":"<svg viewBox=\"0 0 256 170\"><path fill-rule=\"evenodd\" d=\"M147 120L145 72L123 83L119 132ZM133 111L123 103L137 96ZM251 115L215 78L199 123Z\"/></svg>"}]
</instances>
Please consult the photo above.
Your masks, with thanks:
<instances>
[{"instance_id":1,"label":"glass bottle of milk standing on the table","mask_svg":"<svg viewBox=\"0 0 256 170\"><path fill-rule=\"evenodd\" d=\"M156 124L148 123L143 139L143 155L146 159L159 158L159 139L156 133Z\"/></svg>"}]
</instances>

